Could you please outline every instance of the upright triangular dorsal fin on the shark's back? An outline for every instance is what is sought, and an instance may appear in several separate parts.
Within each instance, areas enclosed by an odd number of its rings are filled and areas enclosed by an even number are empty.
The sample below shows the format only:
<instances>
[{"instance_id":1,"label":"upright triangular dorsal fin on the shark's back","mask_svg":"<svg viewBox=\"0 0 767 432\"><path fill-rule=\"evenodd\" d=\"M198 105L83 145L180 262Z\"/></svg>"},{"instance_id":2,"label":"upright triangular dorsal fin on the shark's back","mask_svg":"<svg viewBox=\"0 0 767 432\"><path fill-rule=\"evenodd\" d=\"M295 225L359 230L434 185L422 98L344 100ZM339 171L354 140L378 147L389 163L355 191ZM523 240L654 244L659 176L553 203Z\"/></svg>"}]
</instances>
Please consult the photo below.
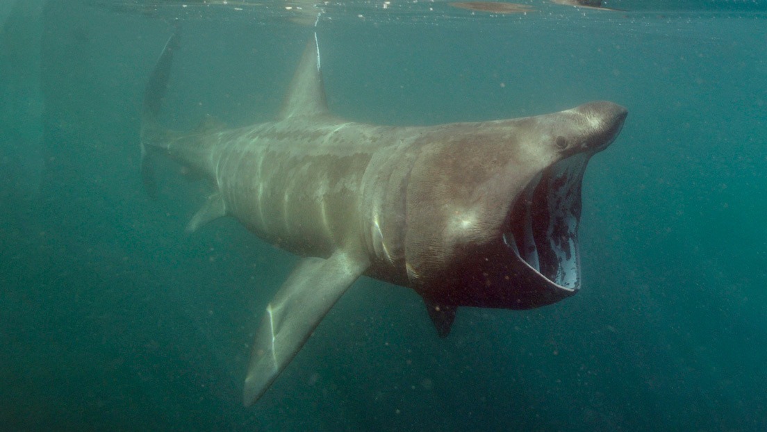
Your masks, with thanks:
<instances>
[{"instance_id":1,"label":"upright triangular dorsal fin on the shark's back","mask_svg":"<svg viewBox=\"0 0 767 432\"><path fill-rule=\"evenodd\" d=\"M282 104L279 119L297 116L321 116L328 114L325 88L320 69L320 49L317 34L309 38L301 63L288 87L288 96Z\"/></svg>"}]
</instances>

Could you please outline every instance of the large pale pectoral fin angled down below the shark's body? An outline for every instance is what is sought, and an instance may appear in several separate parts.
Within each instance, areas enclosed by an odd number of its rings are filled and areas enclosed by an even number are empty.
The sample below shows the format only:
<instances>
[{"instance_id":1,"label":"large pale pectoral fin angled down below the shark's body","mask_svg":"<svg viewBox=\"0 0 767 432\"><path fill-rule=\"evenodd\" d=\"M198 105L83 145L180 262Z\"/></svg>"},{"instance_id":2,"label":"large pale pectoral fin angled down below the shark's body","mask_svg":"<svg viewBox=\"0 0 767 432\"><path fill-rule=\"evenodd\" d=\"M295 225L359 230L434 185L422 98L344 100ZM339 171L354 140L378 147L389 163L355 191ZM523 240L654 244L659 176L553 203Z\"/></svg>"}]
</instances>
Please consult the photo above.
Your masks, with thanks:
<instances>
[{"instance_id":1,"label":"large pale pectoral fin angled down below the shark's body","mask_svg":"<svg viewBox=\"0 0 767 432\"><path fill-rule=\"evenodd\" d=\"M328 259L304 259L293 270L256 331L243 393L246 407L264 394L369 264L364 254L336 252Z\"/></svg>"}]
</instances>

